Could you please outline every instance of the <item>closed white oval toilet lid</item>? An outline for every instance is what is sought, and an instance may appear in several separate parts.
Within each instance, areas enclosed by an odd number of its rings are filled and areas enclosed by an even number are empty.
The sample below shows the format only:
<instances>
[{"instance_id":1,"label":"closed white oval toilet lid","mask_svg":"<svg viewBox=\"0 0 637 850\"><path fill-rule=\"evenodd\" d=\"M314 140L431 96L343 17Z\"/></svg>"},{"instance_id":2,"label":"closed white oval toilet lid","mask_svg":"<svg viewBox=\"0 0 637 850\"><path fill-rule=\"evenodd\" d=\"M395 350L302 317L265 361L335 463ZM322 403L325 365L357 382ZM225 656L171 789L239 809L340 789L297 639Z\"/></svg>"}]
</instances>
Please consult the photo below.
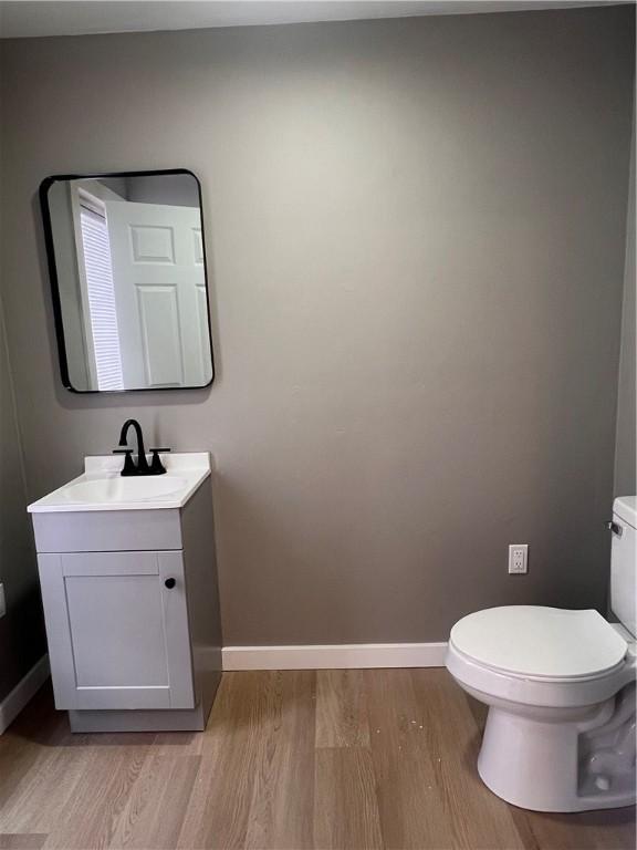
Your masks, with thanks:
<instances>
[{"instance_id":1,"label":"closed white oval toilet lid","mask_svg":"<svg viewBox=\"0 0 637 850\"><path fill-rule=\"evenodd\" d=\"M479 664L546 678L603 673L627 650L626 641L597 611L541 605L477 611L456 623L450 643Z\"/></svg>"}]
</instances>

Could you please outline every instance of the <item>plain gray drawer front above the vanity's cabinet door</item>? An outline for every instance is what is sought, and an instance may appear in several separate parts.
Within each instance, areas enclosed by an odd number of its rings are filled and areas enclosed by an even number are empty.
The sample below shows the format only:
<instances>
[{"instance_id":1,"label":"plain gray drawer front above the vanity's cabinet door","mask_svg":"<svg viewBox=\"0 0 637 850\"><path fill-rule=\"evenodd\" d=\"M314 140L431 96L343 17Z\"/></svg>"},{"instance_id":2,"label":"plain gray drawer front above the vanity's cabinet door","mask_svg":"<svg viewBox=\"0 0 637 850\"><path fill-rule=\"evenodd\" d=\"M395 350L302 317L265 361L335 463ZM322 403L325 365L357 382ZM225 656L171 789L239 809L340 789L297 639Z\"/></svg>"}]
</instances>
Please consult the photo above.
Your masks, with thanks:
<instances>
[{"instance_id":1,"label":"plain gray drawer front above the vanity's cabinet door","mask_svg":"<svg viewBox=\"0 0 637 850\"><path fill-rule=\"evenodd\" d=\"M93 510L33 514L39 552L181 549L179 511Z\"/></svg>"}]
</instances>

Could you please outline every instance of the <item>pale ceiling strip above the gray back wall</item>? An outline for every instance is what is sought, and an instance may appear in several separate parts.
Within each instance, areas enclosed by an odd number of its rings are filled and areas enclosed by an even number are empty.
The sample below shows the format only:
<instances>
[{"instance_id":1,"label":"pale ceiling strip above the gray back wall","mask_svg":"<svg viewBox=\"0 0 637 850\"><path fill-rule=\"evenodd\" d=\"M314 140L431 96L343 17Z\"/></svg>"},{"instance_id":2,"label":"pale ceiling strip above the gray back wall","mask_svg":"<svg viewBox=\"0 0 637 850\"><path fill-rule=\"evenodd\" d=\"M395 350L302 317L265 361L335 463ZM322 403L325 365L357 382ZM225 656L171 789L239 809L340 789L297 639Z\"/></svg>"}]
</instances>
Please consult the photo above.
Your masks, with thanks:
<instances>
[{"instance_id":1,"label":"pale ceiling strip above the gray back wall","mask_svg":"<svg viewBox=\"0 0 637 850\"><path fill-rule=\"evenodd\" d=\"M635 0L2 0L0 38L616 6Z\"/></svg>"}]
</instances>

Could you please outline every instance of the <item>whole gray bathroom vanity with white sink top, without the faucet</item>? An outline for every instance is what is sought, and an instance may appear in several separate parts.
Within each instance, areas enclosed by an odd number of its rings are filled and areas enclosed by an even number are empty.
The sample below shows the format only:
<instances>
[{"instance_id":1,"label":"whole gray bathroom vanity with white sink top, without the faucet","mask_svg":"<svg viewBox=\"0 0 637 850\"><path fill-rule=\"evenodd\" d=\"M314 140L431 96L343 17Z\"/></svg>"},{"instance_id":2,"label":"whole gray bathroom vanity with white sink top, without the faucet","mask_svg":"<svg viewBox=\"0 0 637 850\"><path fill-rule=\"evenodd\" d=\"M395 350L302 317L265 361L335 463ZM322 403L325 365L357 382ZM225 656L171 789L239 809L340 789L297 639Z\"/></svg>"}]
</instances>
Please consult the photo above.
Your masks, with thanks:
<instances>
[{"instance_id":1,"label":"whole gray bathroom vanity with white sink top, without the faucet","mask_svg":"<svg viewBox=\"0 0 637 850\"><path fill-rule=\"evenodd\" d=\"M210 457L84 475L29 506L55 706L73 732L203 729L221 677Z\"/></svg>"}]
</instances>

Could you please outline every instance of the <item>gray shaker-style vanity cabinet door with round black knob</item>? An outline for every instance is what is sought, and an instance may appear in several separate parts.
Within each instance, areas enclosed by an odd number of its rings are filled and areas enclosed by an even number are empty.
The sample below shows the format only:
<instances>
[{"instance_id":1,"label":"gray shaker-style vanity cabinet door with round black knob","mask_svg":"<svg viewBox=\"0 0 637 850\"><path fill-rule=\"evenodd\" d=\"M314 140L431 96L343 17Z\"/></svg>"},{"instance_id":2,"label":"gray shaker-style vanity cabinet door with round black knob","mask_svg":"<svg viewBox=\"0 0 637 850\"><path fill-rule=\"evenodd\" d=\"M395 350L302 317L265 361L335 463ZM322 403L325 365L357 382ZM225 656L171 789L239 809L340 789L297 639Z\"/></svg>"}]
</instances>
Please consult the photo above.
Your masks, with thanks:
<instances>
[{"instance_id":1,"label":"gray shaker-style vanity cabinet door with round black knob","mask_svg":"<svg viewBox=\"0 0 637 850\"><path fill-rule=\"evenodd\" d=\"M58 708L194 708L180 551L38 556Z\"/></svg>"}]
</instances>

